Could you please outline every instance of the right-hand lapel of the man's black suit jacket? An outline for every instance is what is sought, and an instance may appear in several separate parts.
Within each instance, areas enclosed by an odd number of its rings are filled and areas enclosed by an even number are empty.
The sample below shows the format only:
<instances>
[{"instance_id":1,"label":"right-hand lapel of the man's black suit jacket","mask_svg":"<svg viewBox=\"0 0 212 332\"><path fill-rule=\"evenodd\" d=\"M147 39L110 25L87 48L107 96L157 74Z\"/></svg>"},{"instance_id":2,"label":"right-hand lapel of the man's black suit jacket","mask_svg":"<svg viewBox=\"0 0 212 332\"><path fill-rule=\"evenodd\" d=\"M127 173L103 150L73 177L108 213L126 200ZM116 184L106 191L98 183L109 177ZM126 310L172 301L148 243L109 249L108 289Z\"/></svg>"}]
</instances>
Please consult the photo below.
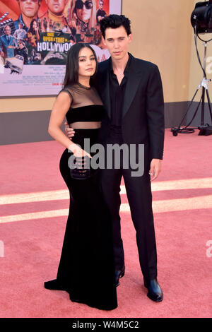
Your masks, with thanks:
<instances>
[{"instance_id":1,"label":"right-hand lapel of the man's black suit jacket","mask_svg":"<svg viewBox=\"0 0 212 332\"><path fill-rule=\"evenodd\" d=\"M127 78L126 83L126 90L124 94L124 103L123 103L123 109L122 109L122 119L124 118L124 115L128 111L131 103L134 100L134 97L136 95L136 91L139 88L139 83L141 81L141 73L139 73L136 70L136 60L133 56L131 56L131 64L129 68L129 76Z\"/></svg>"}]
</instances>

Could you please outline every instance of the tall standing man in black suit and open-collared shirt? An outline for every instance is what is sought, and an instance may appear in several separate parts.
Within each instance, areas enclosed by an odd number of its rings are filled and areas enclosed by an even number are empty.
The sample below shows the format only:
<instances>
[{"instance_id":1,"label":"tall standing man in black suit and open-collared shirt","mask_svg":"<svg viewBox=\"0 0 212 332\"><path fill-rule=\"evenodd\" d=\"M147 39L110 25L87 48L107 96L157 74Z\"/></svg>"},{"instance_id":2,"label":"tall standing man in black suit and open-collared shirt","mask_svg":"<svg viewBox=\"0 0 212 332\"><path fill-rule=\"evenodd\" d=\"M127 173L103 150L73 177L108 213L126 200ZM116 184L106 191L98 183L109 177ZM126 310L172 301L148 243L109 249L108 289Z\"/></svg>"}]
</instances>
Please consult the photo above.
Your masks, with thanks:
<instances>
[{"instance_id":1,"label":"tall standing man in black suit and open-collared shirt","mask_svg":"<svg viewBox=\"0 0 212 332\"><path fill-rule=\"evenodd\" d=\"M119 195L122 176L129 201L131 218L136 229L139 262L148 297L163 300L157 280L157 253L153 224L151 180L161 170L164 144L163 88L158 66L134 58L128 53L131 42L130 21L125 16L110 15L100 22L102 36L111 57L99 64L95 87L107 114L102 120L100 142L144 145L143 175L131 176L131 166L102 170L101 182L105 201L112 215L114 264L117 285L124 275L124 249L121 237ZM67 130L69 138L73 130ZM98 277L97 277L98 278Z\"/></svg>"}]
</instances>

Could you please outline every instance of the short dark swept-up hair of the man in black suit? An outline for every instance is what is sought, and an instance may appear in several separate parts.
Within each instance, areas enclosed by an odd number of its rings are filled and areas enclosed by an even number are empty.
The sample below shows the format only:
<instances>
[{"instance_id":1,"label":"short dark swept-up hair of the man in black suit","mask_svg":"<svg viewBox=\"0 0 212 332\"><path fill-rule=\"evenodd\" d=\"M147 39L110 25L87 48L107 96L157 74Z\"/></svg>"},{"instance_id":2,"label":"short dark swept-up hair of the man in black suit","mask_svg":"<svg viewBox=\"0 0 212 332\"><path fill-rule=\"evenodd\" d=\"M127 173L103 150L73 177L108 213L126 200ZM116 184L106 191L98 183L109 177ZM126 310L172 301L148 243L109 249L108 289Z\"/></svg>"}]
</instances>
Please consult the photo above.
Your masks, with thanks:
<instances>
[{"instance_id":1,"label":"short dark swept-up hair of the man in black suit","mask_svg":"<svg viewBox=\"0 0 212 332\"><path fill-rule=\"evenodd\" d=\"M121 26L124 27L127 35L129 36L131 34L130 23L131 22L130 22L129 18L126 18L124 15L112 14L112 15L106 16L105 18L102 18L102 20L100 20L100 29L102 32L102 36L105 39L105 30L107 28L116 29Z\"/></svg>"}]
</instances>

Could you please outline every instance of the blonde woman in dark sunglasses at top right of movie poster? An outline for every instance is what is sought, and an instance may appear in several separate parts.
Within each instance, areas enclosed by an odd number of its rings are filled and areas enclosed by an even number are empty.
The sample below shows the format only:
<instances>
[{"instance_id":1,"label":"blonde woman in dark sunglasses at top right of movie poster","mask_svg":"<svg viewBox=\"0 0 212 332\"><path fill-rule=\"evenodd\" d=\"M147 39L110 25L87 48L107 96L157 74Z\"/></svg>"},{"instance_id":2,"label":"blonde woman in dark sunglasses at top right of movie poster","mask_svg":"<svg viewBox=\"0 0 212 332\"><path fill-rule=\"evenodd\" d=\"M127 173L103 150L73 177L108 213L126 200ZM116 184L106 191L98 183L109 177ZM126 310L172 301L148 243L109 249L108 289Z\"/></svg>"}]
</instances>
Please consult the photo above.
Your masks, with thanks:
<instances>
[{"instance_id":1,"label":"blonde woman in dark sunglasses at top right of movie poster","mask_svg":"<svg viewBox=\"0 0 212 332\"><path fill-rule=\"evenodd\" d=\"M95 28L95 0L73 0L70 9L70 28L75 28L77 34L87 33Z\"/></svg>"}]
</instances>

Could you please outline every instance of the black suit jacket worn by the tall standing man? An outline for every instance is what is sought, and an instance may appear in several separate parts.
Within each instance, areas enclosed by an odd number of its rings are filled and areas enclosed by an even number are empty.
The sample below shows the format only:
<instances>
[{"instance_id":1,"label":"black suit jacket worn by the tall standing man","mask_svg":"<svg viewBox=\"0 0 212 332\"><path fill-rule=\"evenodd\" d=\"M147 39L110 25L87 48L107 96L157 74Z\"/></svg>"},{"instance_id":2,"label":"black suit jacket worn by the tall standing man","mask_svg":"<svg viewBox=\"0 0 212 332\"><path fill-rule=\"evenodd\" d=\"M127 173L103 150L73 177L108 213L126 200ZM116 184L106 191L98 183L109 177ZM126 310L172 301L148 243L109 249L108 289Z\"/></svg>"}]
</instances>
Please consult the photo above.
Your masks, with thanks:
<instances>
[{"instance_id":1,"label":"black suit jacket worn by the tall standing man","mask_svg":"<svg viewBox=\"0 0 212 332\"><path fill-rule=\"evenodd\" d=\"M123 140L126 144L145 144L151 159L163 159L165 125L160 72L155 64L129 56L131 65L122 109ZM109 134L111 119L109 61L98 64L93 80L106 109L100 132L102 143Z\"/></svg>"}]
</instances>

